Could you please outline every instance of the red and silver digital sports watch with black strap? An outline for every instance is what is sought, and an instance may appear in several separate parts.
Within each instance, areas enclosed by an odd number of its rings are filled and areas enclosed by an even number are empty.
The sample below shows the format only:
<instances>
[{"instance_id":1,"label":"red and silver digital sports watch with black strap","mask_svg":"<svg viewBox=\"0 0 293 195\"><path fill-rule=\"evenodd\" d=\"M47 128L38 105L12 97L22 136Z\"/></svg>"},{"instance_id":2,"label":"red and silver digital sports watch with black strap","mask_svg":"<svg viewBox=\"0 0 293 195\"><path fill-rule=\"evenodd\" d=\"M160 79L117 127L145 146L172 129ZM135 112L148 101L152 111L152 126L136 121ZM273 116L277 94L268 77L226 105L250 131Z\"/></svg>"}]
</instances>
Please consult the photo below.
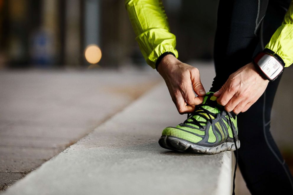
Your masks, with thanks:
<instances>
[{"instance_id":1,"label":"red and silver digital sports watch with black strap","mask_svg":"<svg viewBox=\"0 0 293 195\"><path fill-rule=\"evenodd\" d=\"M259 52L252 61L258 72L269 81L274 81L284 69L281 61L271 53Z\"/></svg>"}]
</instances>

